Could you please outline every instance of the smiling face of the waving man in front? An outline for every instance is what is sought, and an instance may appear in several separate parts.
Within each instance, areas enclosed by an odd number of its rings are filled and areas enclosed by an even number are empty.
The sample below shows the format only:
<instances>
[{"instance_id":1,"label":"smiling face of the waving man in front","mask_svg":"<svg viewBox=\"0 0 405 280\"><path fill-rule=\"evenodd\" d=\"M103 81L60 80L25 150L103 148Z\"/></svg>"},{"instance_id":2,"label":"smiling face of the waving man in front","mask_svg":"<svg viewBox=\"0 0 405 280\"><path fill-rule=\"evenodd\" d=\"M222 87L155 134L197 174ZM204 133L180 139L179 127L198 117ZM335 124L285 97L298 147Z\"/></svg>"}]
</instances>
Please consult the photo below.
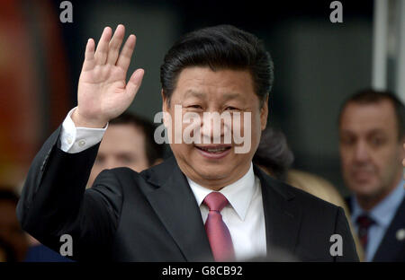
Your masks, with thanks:
<instances>
[{"instance_id":1,"label":"smiling face of the waving man in front","mask_svg":"<svg viewBox=\"0 0 405 280\"><path fill-rule=\"evenodd\" d=\"M267 102L260 108L259 98L254 92L251 75L248 71L217 70L209 67L186 67L178 75L175 91L170 98L170 105L163 95L163 110L175 120L175 105L182 106L182 115L188 112L198 114L202 120L201 139L211 138L211 144L170 144L175 159L184 174L203 187L223 188L246 174L250 162L257 150L261 131L266 127ZM250 149L247 153L235 153L238 144L224 144L221 129L220 144L213 144L211 130L205 129L204 112L240 113L240 133L250 129ZM244 126L243 113L250 112L251 121ZM181 124L181 123L180 123ZM172 139L175 134L175 121L172 121ZM183 124L182 131L187 127ZM211 125L211 128L214 126ZM223 127L223 123L222 123ZM235 131L231 129L232 139Z\"/></svg>"}]
</instances>

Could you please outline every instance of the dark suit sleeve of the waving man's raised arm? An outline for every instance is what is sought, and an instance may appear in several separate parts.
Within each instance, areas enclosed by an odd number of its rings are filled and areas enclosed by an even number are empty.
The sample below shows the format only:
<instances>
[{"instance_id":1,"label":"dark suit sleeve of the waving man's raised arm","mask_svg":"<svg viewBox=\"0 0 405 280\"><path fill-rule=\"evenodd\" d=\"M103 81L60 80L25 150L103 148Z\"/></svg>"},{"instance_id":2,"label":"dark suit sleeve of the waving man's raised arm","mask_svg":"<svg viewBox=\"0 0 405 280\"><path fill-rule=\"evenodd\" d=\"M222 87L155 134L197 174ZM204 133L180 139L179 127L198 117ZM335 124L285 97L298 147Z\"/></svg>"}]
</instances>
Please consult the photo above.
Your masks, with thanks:
<instances>
[{"instance_id":1,"label":"dark suit sleeve of the waving man's raised arm","mask_svg":"<svg viewBox=\"0 0 405 280\"><path fill-rule=\"evenodd\" d=\"M120 181L103 171L85 190L99 144L80 153L58 148L61 127L43 144L31 163L17 217L23 230L59 252L64 234L72 237L77 260L109 256L122 205Z\"/></svg>"}]
</instances>

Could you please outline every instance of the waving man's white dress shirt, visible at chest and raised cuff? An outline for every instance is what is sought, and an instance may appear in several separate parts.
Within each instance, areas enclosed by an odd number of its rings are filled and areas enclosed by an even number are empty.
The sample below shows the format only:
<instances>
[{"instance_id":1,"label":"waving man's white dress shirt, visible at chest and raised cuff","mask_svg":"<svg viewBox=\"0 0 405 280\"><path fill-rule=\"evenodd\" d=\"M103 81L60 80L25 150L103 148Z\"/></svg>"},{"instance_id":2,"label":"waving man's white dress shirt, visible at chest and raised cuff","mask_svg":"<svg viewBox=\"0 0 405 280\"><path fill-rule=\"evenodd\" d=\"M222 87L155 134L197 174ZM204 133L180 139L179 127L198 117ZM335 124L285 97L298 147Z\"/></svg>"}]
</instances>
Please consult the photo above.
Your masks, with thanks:
<instances>
[{"instance_id":1,"label":"waving man's white dress shirt, visible at chest and raised cuff","mask_svg":"<svg viewBox=\"0 0 405 280\"><path fill-rule=\"evenodd\" d=\"M74 109L68 112L60 132L59 148L66 153L80 153L99 143L108 127L108 124L104 128L76 127L70 118ZM205 223L208 207L202 204L202 200L212 190L198 185L188 177L187 181L200 206L202 221ZM266 226L262 191L260 180L253 172L253 164L250 164L250 169L241 179L220 189L220 193L229 201L229 205L225 206L220 214L228 226L236 259L245 260L266 256Z\"/></svg>"}]
</instances>

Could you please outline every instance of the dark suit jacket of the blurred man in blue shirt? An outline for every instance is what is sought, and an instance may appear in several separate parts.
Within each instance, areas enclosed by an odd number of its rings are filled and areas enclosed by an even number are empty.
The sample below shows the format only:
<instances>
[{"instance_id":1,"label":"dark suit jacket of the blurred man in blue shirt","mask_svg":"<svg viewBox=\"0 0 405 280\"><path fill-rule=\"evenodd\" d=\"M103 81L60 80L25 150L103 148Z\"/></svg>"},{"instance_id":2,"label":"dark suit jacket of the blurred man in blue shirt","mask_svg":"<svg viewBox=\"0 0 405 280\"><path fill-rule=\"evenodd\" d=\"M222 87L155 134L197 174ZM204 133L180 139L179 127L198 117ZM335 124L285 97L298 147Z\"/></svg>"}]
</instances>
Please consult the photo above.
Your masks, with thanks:
<instances>
[{"instance_id":1,"label":"dark suit jacket of the blurred man in blue shirt","mask_svg":"<svg viewBox=\"0 0 405 280\"><path fill-rule=\"evenodd\" d=\"M346 198L349 211L352 211L352 199ZM405 240L398 240L397 232L405 231L405 198L392 218L392 222L383 236L383 240L375 251L373 261L405 262Z\"/></svg>"}]
</instances>

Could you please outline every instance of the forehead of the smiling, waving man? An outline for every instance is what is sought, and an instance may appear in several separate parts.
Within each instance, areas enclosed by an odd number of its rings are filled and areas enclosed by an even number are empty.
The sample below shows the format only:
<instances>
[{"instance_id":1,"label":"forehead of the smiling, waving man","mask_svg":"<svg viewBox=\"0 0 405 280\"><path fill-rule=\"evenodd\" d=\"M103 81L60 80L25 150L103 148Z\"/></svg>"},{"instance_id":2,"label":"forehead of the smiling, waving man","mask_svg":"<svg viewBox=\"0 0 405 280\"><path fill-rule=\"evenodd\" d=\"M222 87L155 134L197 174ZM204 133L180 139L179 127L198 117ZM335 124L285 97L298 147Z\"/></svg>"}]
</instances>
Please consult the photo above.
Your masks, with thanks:
<instances>
[{"instance_id":1,"label":"forehead of the smiling, waving man","mask_svg":"<svg viewBox=\"0 0 405 280\"><path fill-rule=\"evenodd\" d=\"M255 97L252 76L247 70L193 66L179 74L173 98L251 99Z\"/></svg>"}]
</instances>

